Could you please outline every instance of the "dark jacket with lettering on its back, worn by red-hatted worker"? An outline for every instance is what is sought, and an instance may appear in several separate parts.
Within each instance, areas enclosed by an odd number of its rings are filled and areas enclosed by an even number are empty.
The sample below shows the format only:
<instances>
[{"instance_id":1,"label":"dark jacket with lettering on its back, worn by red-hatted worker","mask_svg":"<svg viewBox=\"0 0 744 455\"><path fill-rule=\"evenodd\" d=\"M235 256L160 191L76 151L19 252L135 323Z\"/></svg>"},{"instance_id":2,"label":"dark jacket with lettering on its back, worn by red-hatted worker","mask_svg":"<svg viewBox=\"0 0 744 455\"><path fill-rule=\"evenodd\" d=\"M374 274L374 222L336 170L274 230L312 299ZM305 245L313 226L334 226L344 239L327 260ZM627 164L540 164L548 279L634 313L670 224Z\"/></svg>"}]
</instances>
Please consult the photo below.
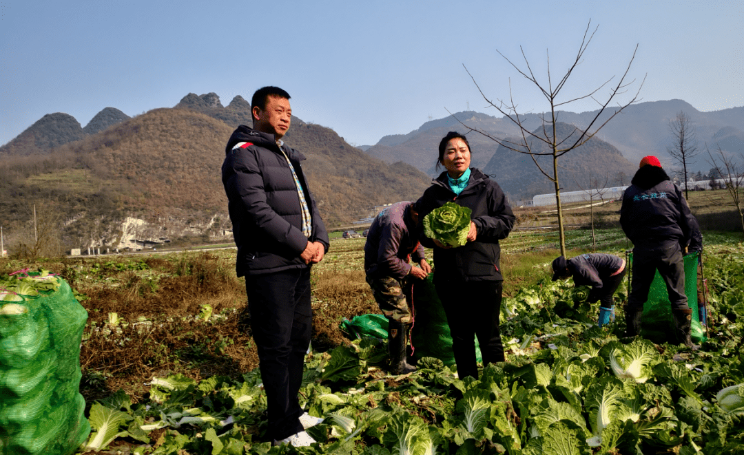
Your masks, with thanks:
<instances>
[{"instance_id":1,"label":"dark jacket with lettering on its back, worn by red-hatted worker","mask_svg":"<svg viewBox=\"0 0 744 455\"><path fill-rule=\"evenodd\" d=\"M661 167L644 166L635 172L623 195L620 226L635 247L656 248L668 243L702 249L697 219L690 213L682 190Z\"/></svg>"}]
</instances>

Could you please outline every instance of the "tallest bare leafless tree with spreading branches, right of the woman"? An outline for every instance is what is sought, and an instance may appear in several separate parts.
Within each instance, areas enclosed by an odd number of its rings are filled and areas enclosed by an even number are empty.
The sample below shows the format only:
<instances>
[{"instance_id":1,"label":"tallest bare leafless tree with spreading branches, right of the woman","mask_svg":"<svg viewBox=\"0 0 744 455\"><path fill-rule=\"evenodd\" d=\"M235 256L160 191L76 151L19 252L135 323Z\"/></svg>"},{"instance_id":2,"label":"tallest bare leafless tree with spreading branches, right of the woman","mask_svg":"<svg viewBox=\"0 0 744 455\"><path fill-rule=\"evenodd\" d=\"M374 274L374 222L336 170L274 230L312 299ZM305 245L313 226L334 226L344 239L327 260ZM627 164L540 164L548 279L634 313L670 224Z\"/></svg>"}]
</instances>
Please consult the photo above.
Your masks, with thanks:
<instances>
[{"instance_id":1,"label":"tallest bare leafless tree with spreading branches, right of the woman","mask_svg":"<svg viewBox=\"0 0 744 455\"><path fill-rule=\"evenodd\" d=\"M558 80L557 84L554 84L554 80L551 77L551 69L550 69L550 54L548 54L548 77L547 82L541 82L537 79L536 75L533 73L532 68L530 67L530 62L527 60L527 56L525 55L524 49L520 47L519 49L522 51L522 57L525 59L525 69L519 68L517 65L515 65L510 59L508 59L504 54L501 54L501 51L496 50L501 57L503 57L507 62L509 62L510 65L514 69L516 69L519 74L522 75L522 77L525 77L525 79L529 80L530 83L533 83L533 85L537 88L538 91L542 93L542 95L545 97L545 100L548 101L548 107L550 108L550 112L545 114L540 114L539 118L542 121L542 129L537 129L534 132L527 128L526 125L526 117L525 113L520 113L517 109L517 104L514 101L513 94L511 94L510 90L510 99L508 102L504 102L504 100L490 100L486 94L484 94L483 90L481 89L480 85L475 81L475 77L470 74L470 71L465 68L468 75L472 79L473 83L475 83L475 86L478 88L478 91L481 92L481 96L484 97L484 100L488 103L489 106L495 108L498 112L506 116L509 120L511 120L518 128L521 135L521 138L511 140L509 138L496 138L493 135L490 135L488 132L485 132L478 128L472 128L470 126L467 126L465 123L460 122L466 129L469 129L469 131L478 132L481 135L484 135L487 138L490 138L492 141L495 141L499 145L502 145L506 147L507 149L513 150L514 152L524 153L527 155L530 155L530 158L532 158L535 165L538 167L539 171L542 172L545 177L550 179L551 182L554 184L555 188L555 194L556 194L556 204L557 204L557 216L558 216L558 231L559 231L559 242L560 242L560 251L563 256L565 256L565 232L563 228L563 211L561 206L561 200L560 200L560 183L558 180L558 159L565 155L568 152L571 152L571 150L576 149L579 146L582 146L584 143L589 141L589 139L593 138L594 135L597 134L597 132L600 131L600 129L603 128L609 122L609 120L612 120L612 118L615 117L615 115L620 114L620 112L623 111L626 107L630 106L632 103L635 103L638 101L638 93L641 91L641 87L643 86L643 82L641 82L641 85L638 87L638 91L635 93L634 96L630 98L625 103L618 103L617 107L613 111L612 109L607 109L609 104L613 102L613 100L617 101L616 99L620 97L620 95L626 93L626 89L629 87L629 85L632 85L635 81L627 81L628 72L630 71L630 65L632 64L633 60L635 59L635 53L638 51L638 45L635 46L635 50L633 51L632 57L630 59L630 62L628 62L628 65L625 69L625 72L623 73L623 76L620 77L620 79L617 81L617 83L614 83L613 80L615 77L611 77L609 80L606 80L606 82L602 83L599 87L595 88L593 91L589 92L588 94L584 94L579 97L569 98L567 100L561 100L559 99L559 94L564 88L565 84L568 82L568 79L571 77L571 74L573 74L574 70L580 65L583 59L584 52L586 52L586 48L589 46L589 42L591 42L592 37L594 37L594 33L597 33L597 28L594 28L594 31L591 32L591 35L589 34L591 26L591 21L586 26L586 30L584 31L584 36L581 41L581 45L579 46L579 51L577 52L576 59L574 59L573 62L571 62L571 65L569 66L568 70L565 71L565 74L563 74L562 77ZM645 80L645 77L644 77ZM600 90L602 90L605 86L608 86L609 91L606 94L603 94L600 96ZM562 106L568 105L570 103L574 103L576 101L580 100L586 100L591 99L594 100L597 103L598 109L596 114L594 114L594 117L589 120L589 124L586 127L578 128L576 126L572 126L574 128L574 131L571 132L570 135L567 135L565 138L559 138L556 135L556 123L559 122L559 108L562 108ZM603 115L604 114L604 115ZM600 118L601 117L601 118ZM459 121L459 120L458 120ZM538 148L547 147L549 150L548 152L539 152L537 151ZM544 170L542 166L538 163L537 157L539 156L550 156L552 158L552 169Z\"/></svg>"}]
</instances>

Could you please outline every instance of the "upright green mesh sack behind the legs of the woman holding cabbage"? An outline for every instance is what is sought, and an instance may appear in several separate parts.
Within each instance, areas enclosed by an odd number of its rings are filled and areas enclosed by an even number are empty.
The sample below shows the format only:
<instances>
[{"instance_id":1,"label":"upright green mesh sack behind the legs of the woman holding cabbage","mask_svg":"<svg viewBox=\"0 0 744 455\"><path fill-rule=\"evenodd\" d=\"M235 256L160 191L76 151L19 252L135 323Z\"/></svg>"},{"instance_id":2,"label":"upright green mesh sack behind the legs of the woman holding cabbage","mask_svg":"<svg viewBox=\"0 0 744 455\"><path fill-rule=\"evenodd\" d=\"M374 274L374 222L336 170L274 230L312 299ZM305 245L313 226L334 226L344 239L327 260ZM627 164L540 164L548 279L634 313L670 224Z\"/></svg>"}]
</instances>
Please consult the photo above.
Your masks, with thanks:
<instances>
[{"instance_id":1,"label":"upright green mesh sack behind the legs of the woman holding cabbage","mask_svg":"<svg viewBox=\"0 0 744 455\"><path fill-rule=\"evenodd\" d=\"M437 296L437 290L432 283L432 274L426 280L417 280L413 288L414 326L412 344L414 358L434 357L443 361L445 365L454 365L455 356L452 354L452 336L449 335L447 316L442 303ZM478 338L475 338L475 358L481 358Z\"/></svg>"}]
</instances>

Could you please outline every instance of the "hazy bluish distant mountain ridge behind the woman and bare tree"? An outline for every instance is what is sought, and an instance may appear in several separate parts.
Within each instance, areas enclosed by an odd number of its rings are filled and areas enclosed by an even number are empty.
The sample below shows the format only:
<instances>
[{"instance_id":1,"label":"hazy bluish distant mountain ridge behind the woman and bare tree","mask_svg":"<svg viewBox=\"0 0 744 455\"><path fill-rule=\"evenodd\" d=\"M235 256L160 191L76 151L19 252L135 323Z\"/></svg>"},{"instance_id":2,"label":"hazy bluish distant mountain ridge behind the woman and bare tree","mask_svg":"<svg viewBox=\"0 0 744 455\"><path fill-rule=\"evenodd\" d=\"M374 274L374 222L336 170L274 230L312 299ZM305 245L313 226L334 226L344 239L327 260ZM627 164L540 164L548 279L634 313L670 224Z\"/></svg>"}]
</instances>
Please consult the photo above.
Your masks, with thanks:
<instances>
[{"instance_id":1,"label":"hazy bluish distant mountain ridge behind the woman and bare tree","mask_svg":"<svg viewBox=\"0 0 744 455\"><path fill-rule=\"evenodd\" d=\"M594 126L605 123L616 109L615 107L606 109ZM710 147L711 151L721 146L725 152L731 154L729 156L744 153L744 107L699 112L683 100L655 101L628 106L622 114L606 123L595 137L617 147L620 154L631 163L638 163L646 155L656 155L664 167L673 171L679 165L670 157L667 147L673 144L670 121L679 112L684 112L690 117L691 126L696 132L696 143L701 151L701 154L689 163L691 170L708 172L710 169L710 164L705 159L708 156L705 152L706 146ZM596 114L596 111L557 112L560 122L579 128L588 127ZM542 125L541 114L535 112L520 114L520 120L530 131ZM452 130L467 133L469 130L466 126L487 132L498 139L518 135L515 124L507 117L501 115L492 117L472 111L456 112L449 117L426 122L419 129L407 134L385 136L374 146L369 147L367 152L388 162L405 161L433 176L437 172L432 162L436 158L440 138ZM594 130L592 128L592 132ZM483 169L496 153L498 144L476 133L468 133L468 138L473 150L472 163L475 167ZM609 162L612 156L595 159L598 162ZM530 179L530 176L523 175L522 178ZM531 183L540 185L539 181Z\"/></svg>"}]
</instances>

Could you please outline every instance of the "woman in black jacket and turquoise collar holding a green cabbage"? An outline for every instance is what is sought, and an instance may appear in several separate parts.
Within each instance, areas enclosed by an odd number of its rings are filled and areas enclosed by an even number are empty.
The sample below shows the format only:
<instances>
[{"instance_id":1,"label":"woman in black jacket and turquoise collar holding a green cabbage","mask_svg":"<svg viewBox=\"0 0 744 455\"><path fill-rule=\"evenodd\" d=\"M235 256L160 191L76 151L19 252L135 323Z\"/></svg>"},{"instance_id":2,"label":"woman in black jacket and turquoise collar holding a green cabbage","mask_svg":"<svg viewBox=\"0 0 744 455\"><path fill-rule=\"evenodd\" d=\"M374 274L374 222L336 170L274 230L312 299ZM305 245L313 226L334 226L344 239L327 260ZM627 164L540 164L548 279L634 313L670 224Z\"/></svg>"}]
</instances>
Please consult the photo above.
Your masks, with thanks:
<instances>
[{"instance_id":1,"label":"woman in black jacket and turquoise collar holding a green cabbage","mask_svg":"<svg viewBox=\"0 0 744 455\"><path fill-rule=\"evenodd\" d=\"M417 201L421 243L434 248L434 287L452 335L458 376L478 378L475 336L484 366L504 361L498 330L501 312L500 239L514 214L496 181L470 168L470 146L458 132L439 144L442 172Z\"/></svg>"}]
</instances>

